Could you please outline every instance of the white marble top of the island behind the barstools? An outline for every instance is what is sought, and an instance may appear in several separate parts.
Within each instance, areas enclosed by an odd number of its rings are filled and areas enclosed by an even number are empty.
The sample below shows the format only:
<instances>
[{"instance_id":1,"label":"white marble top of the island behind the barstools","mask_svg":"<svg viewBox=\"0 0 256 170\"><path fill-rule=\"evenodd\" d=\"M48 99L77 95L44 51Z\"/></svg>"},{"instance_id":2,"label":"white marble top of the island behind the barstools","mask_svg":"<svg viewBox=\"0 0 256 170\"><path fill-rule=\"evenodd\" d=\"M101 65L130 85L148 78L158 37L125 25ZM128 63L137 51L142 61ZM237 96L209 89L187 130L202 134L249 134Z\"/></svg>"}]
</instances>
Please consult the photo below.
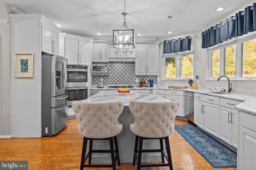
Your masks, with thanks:
<instances>
[{"instance_id":1,"label":"white marble top of the island behind the barstools","mask_svg":"<svg viewBox=\"0 0 256 170\"><path fill-rule=\"evenodd\" d=\"M113 90L102 90L89 98L82 100L86 103L103 103L103 102L123 102L124 106L129 106L131 101L142 101L142 102L169 102L170 100L165 99L157 94L149 91L131 91L130 93L118 94Z\"/></svg>"}]
</instances>

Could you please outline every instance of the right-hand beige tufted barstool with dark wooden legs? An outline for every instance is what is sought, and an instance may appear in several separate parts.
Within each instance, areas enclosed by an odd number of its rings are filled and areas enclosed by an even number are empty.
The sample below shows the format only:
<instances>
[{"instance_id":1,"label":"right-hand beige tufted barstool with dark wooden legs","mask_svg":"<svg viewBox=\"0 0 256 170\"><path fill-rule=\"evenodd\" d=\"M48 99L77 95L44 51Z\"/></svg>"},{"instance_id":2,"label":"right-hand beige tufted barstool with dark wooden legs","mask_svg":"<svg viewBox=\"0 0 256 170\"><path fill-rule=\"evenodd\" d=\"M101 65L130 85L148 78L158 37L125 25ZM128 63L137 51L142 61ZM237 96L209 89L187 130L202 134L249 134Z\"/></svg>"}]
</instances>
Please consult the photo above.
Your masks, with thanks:
<instances>
[{"instance_id":1,"label":"right-hand beige tufted barstool with dark wooden legs","mask_svg":"<svg viewBox=\"0 0 256 170\"><path fill-rule=\"evenodd\" d=\"M169 166L172 170L172 158L168 136L174 132L174 120L180 107L179 101L171 102L130 102L129 108L135 121L130 130L136 135L133 166L137 162L137 170L141 167ZM142 150L143 140L159 139L160 149ZM163 139L166 145L164 152ZM142 152L161 152L162 163L141 164ZM164 157L168 163L164 163Z\"/></svg>"}]
</instances>

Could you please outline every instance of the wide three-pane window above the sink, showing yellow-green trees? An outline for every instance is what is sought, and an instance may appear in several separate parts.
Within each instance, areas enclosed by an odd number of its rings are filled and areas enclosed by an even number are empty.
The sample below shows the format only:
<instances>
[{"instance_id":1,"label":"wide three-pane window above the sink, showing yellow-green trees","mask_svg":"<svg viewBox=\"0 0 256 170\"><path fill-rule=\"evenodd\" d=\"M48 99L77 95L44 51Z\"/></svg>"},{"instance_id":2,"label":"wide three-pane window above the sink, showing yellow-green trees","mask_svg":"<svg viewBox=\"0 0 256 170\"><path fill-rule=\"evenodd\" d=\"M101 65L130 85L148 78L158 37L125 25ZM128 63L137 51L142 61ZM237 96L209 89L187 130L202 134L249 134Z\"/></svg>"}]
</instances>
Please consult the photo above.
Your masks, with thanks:
<instances>
[{"instance_id":1,"label":"wide three-pane window above the sink, showing yellow-green trees","mask_svg":"<svg viewBox=\"0 0 256 170\"><path fill-rule=\"evenodd\" d=\"M256 35L210 49L210 78L256 79Z\"/></svg>"}]
</instances>

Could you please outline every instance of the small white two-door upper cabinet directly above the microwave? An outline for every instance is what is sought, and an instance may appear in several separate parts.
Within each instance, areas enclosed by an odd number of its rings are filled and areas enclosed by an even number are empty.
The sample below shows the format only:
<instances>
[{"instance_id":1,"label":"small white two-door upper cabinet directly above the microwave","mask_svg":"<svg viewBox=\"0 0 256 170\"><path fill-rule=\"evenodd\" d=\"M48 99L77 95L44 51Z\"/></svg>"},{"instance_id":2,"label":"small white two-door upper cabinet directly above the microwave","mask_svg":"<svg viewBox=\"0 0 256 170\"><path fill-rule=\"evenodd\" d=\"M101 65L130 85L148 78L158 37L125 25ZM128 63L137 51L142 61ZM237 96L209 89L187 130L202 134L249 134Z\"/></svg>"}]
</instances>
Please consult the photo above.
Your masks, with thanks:
<instances>
[{"instance_id":1,"label":"small white two-door upper cabinet directly above the microwave","mask_svg":"<svg viewBox=\"0 0 256 170\"><path fill-rule=\"evenodd\" d=\"M108 61L108 44L92 44L92 61Z\"/></svg>"}]
</instances>

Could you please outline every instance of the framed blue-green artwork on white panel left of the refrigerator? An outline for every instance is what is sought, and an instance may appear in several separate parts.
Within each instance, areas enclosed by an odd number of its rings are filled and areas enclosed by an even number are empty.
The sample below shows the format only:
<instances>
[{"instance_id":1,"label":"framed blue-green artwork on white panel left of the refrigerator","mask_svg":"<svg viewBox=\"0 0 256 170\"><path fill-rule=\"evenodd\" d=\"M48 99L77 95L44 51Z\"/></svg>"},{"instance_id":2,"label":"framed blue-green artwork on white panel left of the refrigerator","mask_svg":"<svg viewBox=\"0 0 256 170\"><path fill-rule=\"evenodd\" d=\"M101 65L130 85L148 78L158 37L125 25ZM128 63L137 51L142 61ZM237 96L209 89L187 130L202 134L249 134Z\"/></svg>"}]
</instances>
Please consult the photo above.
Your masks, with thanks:
<instances>
[{"instance_id":1,"label":"framed blue-green artwork on white panel left of the refrigerator","mask_svg":"<svg viewBox=\"0 0 256 170\"><path fill-rule=\"evenodd\" d=\"M33 78L34 54L15 54L14 77Z\"/></svg>"}]
</instances>

